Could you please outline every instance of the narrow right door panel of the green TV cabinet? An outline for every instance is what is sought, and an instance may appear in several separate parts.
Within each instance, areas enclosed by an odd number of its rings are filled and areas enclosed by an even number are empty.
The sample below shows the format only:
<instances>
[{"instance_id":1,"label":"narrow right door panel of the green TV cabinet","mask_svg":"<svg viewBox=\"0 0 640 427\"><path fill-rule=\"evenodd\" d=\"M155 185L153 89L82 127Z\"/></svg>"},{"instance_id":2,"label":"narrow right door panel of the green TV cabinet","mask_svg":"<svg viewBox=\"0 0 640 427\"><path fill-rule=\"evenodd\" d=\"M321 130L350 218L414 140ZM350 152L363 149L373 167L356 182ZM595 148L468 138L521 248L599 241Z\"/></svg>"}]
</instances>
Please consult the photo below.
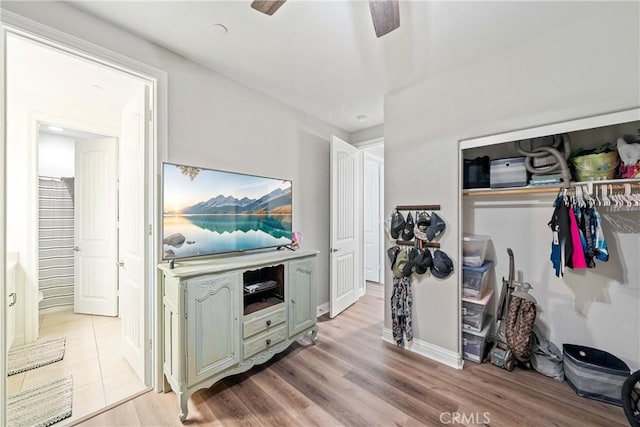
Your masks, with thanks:
<instances>
[{"instance_id":1,"label":"narrow right door panel of the green TV cabinet","mask_svg":"<svg viewBox=\"0 0 640 427\"><path fill-rule=\"evenodd\" d=\"M315 259L289 263L289 336L316 323Z\"/></svg>"}]
</instances>

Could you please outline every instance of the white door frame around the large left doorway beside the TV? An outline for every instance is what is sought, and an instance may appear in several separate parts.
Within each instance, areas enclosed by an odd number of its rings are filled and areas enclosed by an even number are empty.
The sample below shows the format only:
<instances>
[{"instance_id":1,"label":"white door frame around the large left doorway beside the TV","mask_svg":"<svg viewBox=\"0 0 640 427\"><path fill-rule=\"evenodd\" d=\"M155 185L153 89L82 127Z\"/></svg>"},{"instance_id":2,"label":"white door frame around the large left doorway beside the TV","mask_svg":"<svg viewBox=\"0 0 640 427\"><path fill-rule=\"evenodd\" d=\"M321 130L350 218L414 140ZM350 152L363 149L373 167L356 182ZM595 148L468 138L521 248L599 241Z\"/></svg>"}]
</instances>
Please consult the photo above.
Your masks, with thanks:
<instances>
[{"instance_id":1,"label":"white door frame around the large left doorway beside the TV","mask_svg":"<svg viewBox=\"0 0 640 427\"><path fill-rule=\"evenodd\" d=\"M159 287L152 286L153 283L159 283L159 274L155 268L160 260L160 203L157 195L160 191L160 165L167 158L168 151L168 76L167 72L151 67L135 59L115 53L96 44L87 42L78 37L71 36L62 31L55 30L46 25L40 24L33 20L24 18L18 14L3 10L0 16L0 70L6 76L6 38L8 34L15 34L27 37L31 40L43 43L50 47L68 52L73 55L82 57L86 60L110 67L128 73L132 76L146 80L151 86L153 106L153 125L152 132L149 135L149 149L147 150L149 173L146 180L148 193L151 195L147 203L147 221L151 231L147 250L149 252L148 273L148 294L150 296L147 301L147 313L145 322L149 324L149 340L153 340L152 351L150 352L152 369L151 378L146 378L145 383L151 385L156 391L160 391L162 381L162 364L159 356L162 354L162 336L159 330L161 310ZM7 112L6 112L6 79L0 79L0 113L2 120L2 129L0 135L0 184L2 188L2 197L0 197L0 288L5 289L5 271L6 271L6 201L5 201L5 181L6 172L6 129L7 129ZM0 328L0 425L6 425L6 312L4 310L7 303L5 292L0 292L0 313L3 327Z\"/></svg>"}]
</instances>

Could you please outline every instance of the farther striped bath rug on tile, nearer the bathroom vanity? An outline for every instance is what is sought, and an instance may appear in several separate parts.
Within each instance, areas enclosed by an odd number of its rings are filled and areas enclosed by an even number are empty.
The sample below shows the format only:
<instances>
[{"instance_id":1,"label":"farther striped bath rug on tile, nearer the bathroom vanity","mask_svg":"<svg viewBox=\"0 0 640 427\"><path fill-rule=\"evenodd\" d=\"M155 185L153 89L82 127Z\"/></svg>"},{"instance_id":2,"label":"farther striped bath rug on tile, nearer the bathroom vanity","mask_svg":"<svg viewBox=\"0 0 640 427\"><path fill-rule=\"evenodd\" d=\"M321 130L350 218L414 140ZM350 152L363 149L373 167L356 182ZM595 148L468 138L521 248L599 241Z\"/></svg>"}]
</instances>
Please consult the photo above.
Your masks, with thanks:
<instances>
[{"instance_id":1,"label":"farther striped bath rug on tile, nearer the bathroom vanity","mask_svg":"<svg viewBox=\"0 0 640 427\"><path fill-rule=\"evenodd\" d=\"M7 376L62 360L65 337L38 340L12 347L8 355Z\"/></svg>"}]
</instances>

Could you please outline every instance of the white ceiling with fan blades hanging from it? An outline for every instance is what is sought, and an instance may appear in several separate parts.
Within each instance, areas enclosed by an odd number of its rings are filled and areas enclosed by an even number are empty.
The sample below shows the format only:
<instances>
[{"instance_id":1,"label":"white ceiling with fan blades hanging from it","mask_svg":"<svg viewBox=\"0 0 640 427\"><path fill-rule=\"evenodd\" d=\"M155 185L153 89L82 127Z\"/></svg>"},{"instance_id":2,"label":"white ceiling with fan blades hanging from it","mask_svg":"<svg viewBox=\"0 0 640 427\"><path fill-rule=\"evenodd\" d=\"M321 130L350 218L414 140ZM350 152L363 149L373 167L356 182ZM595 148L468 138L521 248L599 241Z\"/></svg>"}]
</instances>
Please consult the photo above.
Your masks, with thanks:
<instances>
[{"instance_id":1,"label":"white ceiling with fan blades hanging from it","mask_svg":"<svg viewBox=\"0 0 640 427\"><path fill-rule=\"evenodd\" d=\"M273 16L250 3L70 2L348 132L383 123L386 93L607 7L401 1L400 28L378 39L366 1L289 0ZM224 24L228 33L219 33L215 24ZM360 115L367 119L358 120Z\"/></svg>"}]
</instances>

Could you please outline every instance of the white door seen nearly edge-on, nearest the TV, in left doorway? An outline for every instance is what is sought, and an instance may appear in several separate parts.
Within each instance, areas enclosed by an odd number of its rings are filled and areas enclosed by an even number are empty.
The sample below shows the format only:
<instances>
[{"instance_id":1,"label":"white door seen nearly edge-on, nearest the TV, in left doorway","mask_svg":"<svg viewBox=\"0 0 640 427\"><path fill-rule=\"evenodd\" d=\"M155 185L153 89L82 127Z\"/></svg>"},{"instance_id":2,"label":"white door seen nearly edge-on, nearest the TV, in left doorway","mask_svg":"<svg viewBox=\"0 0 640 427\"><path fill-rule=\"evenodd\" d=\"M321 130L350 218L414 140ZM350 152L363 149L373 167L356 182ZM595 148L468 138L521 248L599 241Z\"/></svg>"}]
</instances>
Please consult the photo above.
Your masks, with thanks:
<instances>
[{"instance_id":1,"label":"white door seen nearly edge-on, nearest the TV, in left doorway","mask_svg":"<svg viewBox=\"0 0 640 427\"><path fill-rule=\"evenodd\" d=\"M124 357L145 382L145 283L146 244L145 179L147 126L149 124L147 87L141 88L122 111L120 133L120 318Z\"/></svg>"}]
</instances>

